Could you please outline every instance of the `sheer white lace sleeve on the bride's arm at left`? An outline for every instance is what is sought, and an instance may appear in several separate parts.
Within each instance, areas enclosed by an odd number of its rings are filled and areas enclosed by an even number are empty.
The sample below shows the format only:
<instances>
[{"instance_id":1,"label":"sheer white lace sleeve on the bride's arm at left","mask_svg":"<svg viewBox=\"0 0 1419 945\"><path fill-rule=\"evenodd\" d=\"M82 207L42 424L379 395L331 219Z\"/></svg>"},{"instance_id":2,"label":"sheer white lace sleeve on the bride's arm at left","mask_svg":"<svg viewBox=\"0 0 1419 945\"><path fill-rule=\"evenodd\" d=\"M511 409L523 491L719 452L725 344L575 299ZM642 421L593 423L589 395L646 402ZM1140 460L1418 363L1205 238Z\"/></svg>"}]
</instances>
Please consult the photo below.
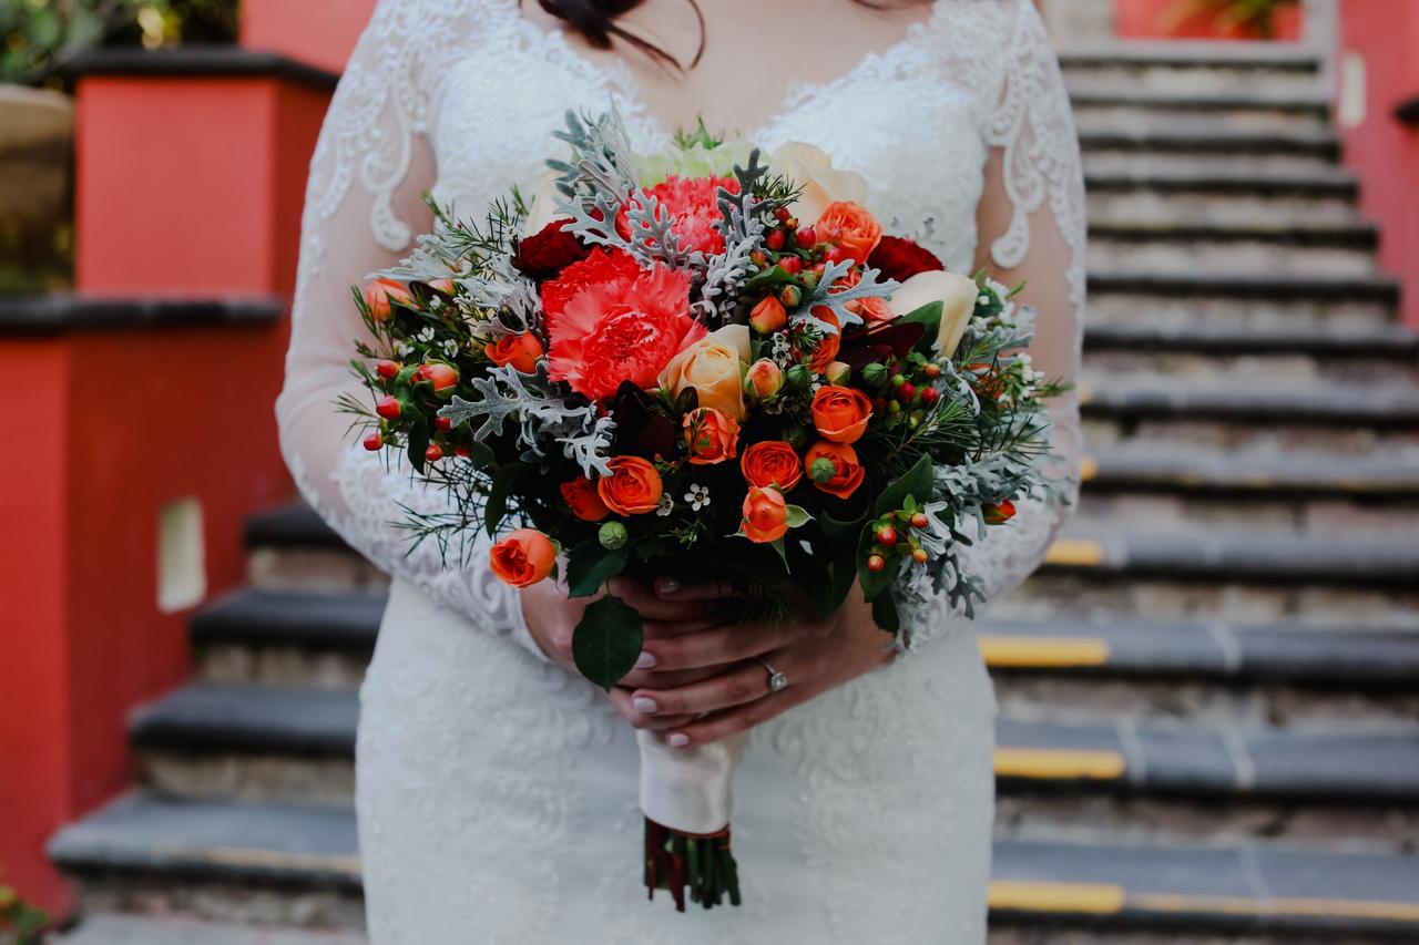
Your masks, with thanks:
<instances>
[{"instance_id":1,"label":"sheer white lace sleeve on the bride's arm at left","mask_svg":"<svg viewBox=\"0 0 1419 945\"><path fill-rule=\"evenodd\" d=\"M431 543L409 552L400 505L440 511L443 495L353 443L336 397L366 392L349 360L365 326L350 285L396 262L431 226L420 194L434 184L429 135L438 78L478 33L475 0L380 0L325 119L311 167L285 387L281 450L307 501L379 568L410 580L471 623L542 657L518 595L475 552L446 569ZM485 541L485 539L484 539Z\"/></svg>"}]
</instances>

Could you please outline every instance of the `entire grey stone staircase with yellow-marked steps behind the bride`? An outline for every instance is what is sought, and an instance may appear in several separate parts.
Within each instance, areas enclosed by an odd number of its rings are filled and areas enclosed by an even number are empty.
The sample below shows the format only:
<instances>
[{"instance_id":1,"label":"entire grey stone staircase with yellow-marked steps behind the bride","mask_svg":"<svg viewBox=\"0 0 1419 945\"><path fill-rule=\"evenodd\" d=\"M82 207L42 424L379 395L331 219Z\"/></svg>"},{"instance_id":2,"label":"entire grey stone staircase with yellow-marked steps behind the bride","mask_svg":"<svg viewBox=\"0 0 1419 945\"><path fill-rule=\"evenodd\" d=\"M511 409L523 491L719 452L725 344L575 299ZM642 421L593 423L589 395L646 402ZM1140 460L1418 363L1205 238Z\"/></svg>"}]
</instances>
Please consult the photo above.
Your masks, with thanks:
<instances>
[{"instance_id":1,"label":"entire grey stone staircase with yellow-marked steps behind the bride","mask_svg":"<svg viewBox=\"0 0 1419 945\"><path fill-rule=\"evenodd\" d=\"M1416 941L1419 336L1320 62L1064 62L1091 458L1077 519L978 627L992 942ZM132 718L139 789L53 843L96 917L70 941L359 938L355 688L383 579L301 507L248 546L250 586L193 619L193 682Z\"/></svg>"}]
</instances>

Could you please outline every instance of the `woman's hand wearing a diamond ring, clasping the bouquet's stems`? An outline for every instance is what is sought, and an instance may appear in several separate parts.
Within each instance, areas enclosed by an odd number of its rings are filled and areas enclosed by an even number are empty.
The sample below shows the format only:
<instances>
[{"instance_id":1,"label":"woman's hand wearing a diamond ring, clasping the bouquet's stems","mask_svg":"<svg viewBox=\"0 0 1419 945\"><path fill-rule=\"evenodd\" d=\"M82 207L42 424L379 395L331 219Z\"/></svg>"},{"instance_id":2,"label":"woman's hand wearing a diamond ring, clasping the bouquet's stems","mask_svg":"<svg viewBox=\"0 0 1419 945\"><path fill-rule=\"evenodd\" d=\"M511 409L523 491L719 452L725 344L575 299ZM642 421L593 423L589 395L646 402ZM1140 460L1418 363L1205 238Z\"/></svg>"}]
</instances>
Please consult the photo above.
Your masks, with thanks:
<instances>
[{"instance_id":1,"label":"woman's hand wearing a diamond ring, clasping the bouquet's stems","mask_svg":"<svg viewBox=\"0 0 1419 945\"><path fill-rule=\"evenodd\" d=\"M657 597L661 604L710 606L722 593L715 586L660 587ZM796 619L775 624L647 633L646 653L657 671L634 680L641 685L613 702L637 728L666 731L670 745L688 748L762 725L895 657L891 637L873 621L860 587L832 617L813 617L806 606L797 612ZM789 685L772 692L759 658L783 673ZM704 675L671 681L670 673Z\"/></svg>"}]
</instances>

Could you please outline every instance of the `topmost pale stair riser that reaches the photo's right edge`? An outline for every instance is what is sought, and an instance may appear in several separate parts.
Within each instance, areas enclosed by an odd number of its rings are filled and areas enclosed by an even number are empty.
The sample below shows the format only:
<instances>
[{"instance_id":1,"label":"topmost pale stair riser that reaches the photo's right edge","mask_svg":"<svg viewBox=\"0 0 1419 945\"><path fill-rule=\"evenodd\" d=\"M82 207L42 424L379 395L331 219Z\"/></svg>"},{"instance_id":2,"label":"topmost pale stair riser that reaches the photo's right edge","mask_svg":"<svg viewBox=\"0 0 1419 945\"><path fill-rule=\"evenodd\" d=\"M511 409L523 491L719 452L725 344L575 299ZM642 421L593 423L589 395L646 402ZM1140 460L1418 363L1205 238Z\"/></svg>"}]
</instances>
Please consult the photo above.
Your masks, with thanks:
<instances>
[{"instance_id":1,"label":"topmost pale stair riser that reaches the photo's right edge","mask_svg":"<svg viewBox=\"0 0 1419 945\"><path fill-rule=\"evenodd\" d=\"M1408 349L1364 355L1311 353L1191 353L1172 350L1098 350L1086 342L1084 373L1114 382L1159 376L1188 382L1305 383L1314 380L1355 383L1412 383L1419 365Z\"/></svg>"}]
</instances>

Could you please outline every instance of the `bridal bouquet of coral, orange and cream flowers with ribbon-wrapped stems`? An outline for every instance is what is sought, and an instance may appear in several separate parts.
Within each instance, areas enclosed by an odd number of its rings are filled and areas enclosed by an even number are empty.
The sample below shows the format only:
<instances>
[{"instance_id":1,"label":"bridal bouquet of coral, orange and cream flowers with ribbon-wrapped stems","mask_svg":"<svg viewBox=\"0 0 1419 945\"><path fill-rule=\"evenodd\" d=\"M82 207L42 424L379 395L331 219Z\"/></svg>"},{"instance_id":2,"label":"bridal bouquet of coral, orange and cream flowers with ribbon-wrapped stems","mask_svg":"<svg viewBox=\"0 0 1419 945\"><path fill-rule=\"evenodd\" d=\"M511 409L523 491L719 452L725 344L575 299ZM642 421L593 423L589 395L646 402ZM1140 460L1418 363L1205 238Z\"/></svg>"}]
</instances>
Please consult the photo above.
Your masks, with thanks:
<instances>
[{"instance_id":1,"label":"bridal bouquet of coral, orange and cream flowers with ribbon-wrapped stems","mask_svg":"<svg viewBox=\"0 0 1419 945\"><path fill-rule=\"evenodd\" d=\"M404 509L412 542L490 553L515 587L561 569L595 597L573 657L603 688L641 651L640 616L597 597L616 576L719 580L755 620L788 619L789 589L832 613L858 583L904 648L934 596L971 614L961 549L1051 488L1059 387L1022 353L1032 314L884 234L864 180L806 145L765 158L701 123L637 155L613 114L558 138L570 158L531 209L434 206L434 233L356 289L373 406L342 406L448 498ZM651 895L738 904L744 739L640 745Z\"/></svg>"}]
</instances>

